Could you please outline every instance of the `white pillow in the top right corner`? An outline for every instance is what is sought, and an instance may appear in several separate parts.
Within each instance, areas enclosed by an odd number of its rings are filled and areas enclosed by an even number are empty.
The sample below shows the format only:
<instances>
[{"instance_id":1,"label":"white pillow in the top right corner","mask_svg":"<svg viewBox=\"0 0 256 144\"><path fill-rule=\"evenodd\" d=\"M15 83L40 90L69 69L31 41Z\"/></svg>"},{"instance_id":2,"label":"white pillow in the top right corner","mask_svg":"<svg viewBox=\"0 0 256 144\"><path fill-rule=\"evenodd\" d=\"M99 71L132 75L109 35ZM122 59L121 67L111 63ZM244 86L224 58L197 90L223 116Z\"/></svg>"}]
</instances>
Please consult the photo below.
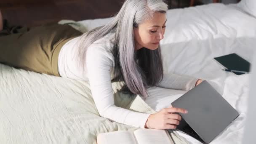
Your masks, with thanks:
<instances>
[{"instance_id":1,"label":"white pillow in the top right corner","mask_svg":"<svg viewBox=\"0 0 256 144\"><path fill-rule=\"evenodd\" d=\"M238 6L240 6L243 11L256 17L256 0L241 0Z\"/></svg>"}]
</instances>

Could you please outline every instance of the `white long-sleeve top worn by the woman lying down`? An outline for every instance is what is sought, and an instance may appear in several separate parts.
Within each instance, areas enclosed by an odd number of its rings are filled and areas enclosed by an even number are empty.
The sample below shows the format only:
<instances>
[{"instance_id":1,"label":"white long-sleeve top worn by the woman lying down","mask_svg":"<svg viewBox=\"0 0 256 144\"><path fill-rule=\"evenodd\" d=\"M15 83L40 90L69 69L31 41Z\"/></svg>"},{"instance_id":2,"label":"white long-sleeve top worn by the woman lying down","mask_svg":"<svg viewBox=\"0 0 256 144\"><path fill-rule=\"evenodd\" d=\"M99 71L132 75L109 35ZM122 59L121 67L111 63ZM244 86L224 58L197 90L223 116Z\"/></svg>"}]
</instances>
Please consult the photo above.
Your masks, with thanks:
<instances>
[{"instance_id":1,"label":"white long-sleeve top worn by the woman lying down","mask_svg":"<svg viewBox=\"0 0 256 144\"><path fill-rule=\"evenodd\" d=\"M91 93L98 109L99 115L117 123L144 128L150 114L133 112L115 106L111 80L115 60L109 51L113 48L114 33L96 40L86 53L85 72L77 67L77 41L76 37L67 42L59 53L58 69L61 77L89 81ZM163 88L190 90L195 86L197 78L168 74L157 85Z\"/></svg>"}]
</instances>

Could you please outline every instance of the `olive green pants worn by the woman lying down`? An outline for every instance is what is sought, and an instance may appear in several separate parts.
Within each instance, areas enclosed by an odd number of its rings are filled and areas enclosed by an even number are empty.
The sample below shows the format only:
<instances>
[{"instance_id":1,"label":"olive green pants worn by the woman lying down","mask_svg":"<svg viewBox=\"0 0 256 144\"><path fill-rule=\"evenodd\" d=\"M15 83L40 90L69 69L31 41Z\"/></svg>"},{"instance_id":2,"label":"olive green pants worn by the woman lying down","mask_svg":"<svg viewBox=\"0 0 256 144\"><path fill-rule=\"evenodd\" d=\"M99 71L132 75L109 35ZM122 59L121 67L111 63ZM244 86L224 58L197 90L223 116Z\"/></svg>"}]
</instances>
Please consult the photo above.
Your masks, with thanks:
<instances>
[{"instance_id":1,"label":"olive green pants worn by the woman lying down","mask_svg":"<svg viewBox=\"0 0 256 144\"><path fill-rule=\"evenodd\" d=\"M0 37L0 63L29 71L60 76L58 57L62 46L82 35L71 26L51 24Z\"/></svg>"}]
</instances>

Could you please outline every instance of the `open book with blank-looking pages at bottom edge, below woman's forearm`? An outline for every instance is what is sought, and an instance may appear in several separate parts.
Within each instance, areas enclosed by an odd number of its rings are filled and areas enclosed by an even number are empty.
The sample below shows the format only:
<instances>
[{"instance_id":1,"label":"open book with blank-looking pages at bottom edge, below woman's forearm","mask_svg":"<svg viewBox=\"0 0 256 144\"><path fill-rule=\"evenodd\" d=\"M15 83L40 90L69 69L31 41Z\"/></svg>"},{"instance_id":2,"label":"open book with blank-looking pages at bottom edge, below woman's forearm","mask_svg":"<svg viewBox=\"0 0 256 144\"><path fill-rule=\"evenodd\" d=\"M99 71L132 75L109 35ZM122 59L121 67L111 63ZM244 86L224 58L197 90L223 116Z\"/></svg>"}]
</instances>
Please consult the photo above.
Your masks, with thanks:
<instances>
[{"instance_id":1,"label":"open book with blank-looking pages at bottom edge, below woman's forearm","mask_svg":"<svg viewBox=\"0 0 256 144\"><path fill-rule=\"evenodd\" d=\"M168 131L140 128L136 131L100 133L97 144L174 144Z\"/></svg>"}]
</instances>

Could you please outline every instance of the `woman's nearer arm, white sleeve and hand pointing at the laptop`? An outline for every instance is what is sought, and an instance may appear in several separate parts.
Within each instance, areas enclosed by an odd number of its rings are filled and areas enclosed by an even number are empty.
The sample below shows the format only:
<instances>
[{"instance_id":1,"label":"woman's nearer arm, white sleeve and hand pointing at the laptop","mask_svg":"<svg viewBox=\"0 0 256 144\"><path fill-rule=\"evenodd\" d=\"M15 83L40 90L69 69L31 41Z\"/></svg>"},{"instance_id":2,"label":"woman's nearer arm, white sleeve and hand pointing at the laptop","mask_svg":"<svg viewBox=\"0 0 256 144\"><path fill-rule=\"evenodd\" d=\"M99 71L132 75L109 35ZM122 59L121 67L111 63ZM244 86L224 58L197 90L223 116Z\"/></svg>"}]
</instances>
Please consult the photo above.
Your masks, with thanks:
<instances>
[{"instance_id":1,"label":"woman's nearer arm, white sleeve and hand pointing at the laptop","mask_svg":"<svg viewBox=\"0 0 256 144\"><path fill-rule=\"evenodd\" d=\"M110 70L114 65L112 54L89 48L86 54L87 74L90 81L94 102L102 117L117 123L140 128L173 129L179 125L180 115L187 113L185 109L168 107L155 114L134 112L116 107L111 84Z\"/></svg>"}]
</instances>

